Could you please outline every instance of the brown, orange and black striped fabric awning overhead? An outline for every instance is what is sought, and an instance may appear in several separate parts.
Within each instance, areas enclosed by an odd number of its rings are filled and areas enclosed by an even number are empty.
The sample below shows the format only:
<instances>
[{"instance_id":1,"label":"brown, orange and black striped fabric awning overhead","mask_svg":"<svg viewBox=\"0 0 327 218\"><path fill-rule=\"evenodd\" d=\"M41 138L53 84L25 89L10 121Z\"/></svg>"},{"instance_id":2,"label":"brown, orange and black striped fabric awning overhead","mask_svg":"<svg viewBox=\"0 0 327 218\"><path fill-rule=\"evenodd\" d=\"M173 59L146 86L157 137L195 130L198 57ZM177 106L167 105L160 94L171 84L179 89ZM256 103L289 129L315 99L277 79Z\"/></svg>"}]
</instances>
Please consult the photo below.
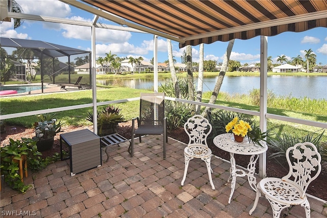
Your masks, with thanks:
<instances>
[{"instance_id":1,"label":"brown, orange and black striped fabric awning overhead","mask_svg":"<svg viewBox=\"0 0 327 218\"><path fill-rule=\"evenodd\" d=\"M72 0L63 2L70 4ZM180 42L180 48L234 38L249 39L259 35L274 36L286 31L301 32L315 27L327 27L326 0L82 2L149 30L173 36Z\"/></svg>"}]
</instances>

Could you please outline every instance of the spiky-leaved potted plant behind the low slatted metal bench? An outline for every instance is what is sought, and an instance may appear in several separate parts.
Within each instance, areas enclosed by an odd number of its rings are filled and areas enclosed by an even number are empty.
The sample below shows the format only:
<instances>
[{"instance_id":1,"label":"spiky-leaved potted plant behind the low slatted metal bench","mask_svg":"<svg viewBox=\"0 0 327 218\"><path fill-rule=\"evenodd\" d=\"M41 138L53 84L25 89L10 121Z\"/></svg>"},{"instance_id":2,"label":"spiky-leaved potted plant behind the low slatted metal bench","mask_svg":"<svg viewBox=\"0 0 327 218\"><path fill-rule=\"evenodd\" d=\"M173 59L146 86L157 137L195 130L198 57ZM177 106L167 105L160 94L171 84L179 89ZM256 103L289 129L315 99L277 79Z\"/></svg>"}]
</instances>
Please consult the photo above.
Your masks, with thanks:
<instances>
[{"instance_id":1,"label":"spiky-leaved potted plant behind the low slatted metal bench","mask_svg":"<svg viewBox=\"0 0 327 218\"><path fill-rule=\"evenodd\" d=\"M86 120L93 122L93 114L88 112ZM106 136L117 132L117 126L120 122L125 122L121 109L112 105L104 107L97 115L98 135Z\"/></svg>"}]
</instances>

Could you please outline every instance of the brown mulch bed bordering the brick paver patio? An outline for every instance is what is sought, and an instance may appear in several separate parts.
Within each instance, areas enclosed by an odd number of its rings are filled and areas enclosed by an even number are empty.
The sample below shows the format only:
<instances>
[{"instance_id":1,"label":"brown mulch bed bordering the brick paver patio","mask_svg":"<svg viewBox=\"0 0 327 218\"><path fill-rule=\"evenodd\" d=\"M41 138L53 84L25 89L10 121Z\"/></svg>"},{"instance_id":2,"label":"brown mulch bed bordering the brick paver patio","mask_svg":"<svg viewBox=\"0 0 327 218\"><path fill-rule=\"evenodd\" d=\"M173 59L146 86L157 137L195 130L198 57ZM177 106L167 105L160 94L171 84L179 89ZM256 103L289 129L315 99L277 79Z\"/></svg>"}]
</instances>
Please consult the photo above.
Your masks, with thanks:
<instances>
[{"instance_id":1,"label":"brown mulch bed bordering the brick paver patio","mask_svg":"<svg viewBox=\"0 0 327 218\"><path fill-rule=\"evenodd\" d=\"M63 133L73 132L76 130L88 128L93 130L93 126L69 126L63 129ZM127 139L131 138L131 123L121 123L118 127L118 133L124 136ZM60 143L59 143L59 135L57 134L55 137L54 146L51 150L43 151L42 158L52 156L55 152L60 152ZM22 126L6 126L6 133L2 133L1 137L1 145L6 145L9 143L9 138L17 140L23 138L32 138L35 136L34 128L25 128ZM189 138L188 135L184 132L183 128L175 129L168 132L168 136L174 138L178 141L188 143ZM213 154L219 156L225 160L229 160L229 153L217 148L212 142L212 140L208 140L208 146L212 149ZM267 157L271 154L271 150L268 149ZM249 162L249 156L235 155L236 163L240 166L247 167ZM283 164L283 166L282 166ZM258 169L258 163L256 166ZM267 176L268 177L277 177L282 178L288 173L288 165L286 162L278 163L275 159L267 158ZM307 193L320 198L322 200L327 201L327 163L323 163L322 170L320 172L319 177L310 183L310 187L307 190Z\"/></svg>"}]
</instances>

